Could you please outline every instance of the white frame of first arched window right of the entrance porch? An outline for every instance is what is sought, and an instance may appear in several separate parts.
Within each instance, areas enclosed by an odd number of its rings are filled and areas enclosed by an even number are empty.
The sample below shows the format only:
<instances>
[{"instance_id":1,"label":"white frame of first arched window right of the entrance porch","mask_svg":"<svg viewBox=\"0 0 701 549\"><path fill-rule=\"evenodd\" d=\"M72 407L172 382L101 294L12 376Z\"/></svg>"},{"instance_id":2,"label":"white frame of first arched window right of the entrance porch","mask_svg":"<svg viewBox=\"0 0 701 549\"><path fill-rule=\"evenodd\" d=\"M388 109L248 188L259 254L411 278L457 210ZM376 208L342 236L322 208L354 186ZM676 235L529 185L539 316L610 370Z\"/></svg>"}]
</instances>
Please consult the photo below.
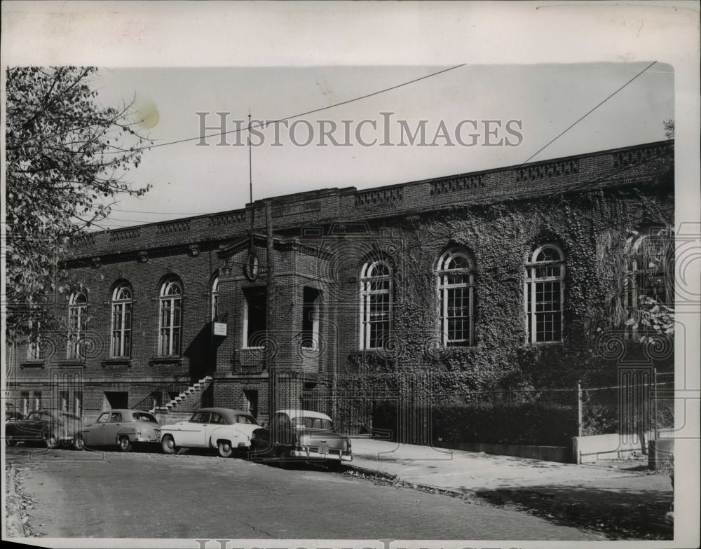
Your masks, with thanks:
<instances>
[{"instance_id":1,"label":"white frame of first arched window right of the entrance porch","mask_svg":"<svg viewBox=\"0 0 701 549\"><path fill-rule=\"evenodd\" d=\"M374 275L377 267L384 267L386 274ZM372 289L372 284L386 282L386 286L381 289ZM387 296L387 311L385 318L377 320L372 312L373 298ZM360 349L372 350L383 349L392 337L392 317L393 317L393 270L391 265L383 260L372 260L365 263L360 271ZM376 324L386 324L386 341L384 345L374 345L372 340L372 327Z\"/></svg>"}]
</instances>

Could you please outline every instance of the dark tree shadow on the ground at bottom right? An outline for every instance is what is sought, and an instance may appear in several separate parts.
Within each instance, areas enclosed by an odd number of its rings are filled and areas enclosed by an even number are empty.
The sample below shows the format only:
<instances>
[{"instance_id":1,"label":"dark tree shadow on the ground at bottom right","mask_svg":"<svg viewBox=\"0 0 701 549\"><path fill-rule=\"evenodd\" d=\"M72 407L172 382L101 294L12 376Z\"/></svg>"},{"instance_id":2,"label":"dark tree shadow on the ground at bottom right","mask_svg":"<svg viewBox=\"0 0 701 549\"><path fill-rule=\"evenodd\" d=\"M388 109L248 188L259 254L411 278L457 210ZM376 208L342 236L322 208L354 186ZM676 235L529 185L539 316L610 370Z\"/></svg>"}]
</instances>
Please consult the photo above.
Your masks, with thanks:
<instances>
[{"instance_id":1,"label":"dark tree shadow on the ground at bottom right","mask_svg":"<svg viewBox=\"0 0 701 549\"><path fill-rule=\"evenodd\" d=\"M674 499L670 490L639 491L587 486L533 486L479 490L475 496L492 505L536 515L556 524L596 531L609 539L674 538L665 513Z\"/></svg>"}]
</instances>

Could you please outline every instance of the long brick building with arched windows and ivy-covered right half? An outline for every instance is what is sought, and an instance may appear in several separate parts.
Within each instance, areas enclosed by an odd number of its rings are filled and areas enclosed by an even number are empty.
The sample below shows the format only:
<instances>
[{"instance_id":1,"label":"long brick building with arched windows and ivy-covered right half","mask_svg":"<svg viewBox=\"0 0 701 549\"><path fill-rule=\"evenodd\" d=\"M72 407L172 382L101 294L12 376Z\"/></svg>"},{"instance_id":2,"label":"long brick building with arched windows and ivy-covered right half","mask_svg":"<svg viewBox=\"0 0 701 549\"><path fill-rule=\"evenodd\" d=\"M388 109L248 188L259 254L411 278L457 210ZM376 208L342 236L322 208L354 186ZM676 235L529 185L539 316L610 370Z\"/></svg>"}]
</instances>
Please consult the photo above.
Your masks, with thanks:
<instances>
[{"instance_id":1,"label":"long brick building with arched windows and ivy-covered right half","mask_svg":"<svg viewBox=\"0 0 701 549\"><path fill-rule=\"evenodd\" d=\"M655 244L674 225L672 150L327 188L84 235L65 262L74 286L55 296L65 327L7 349L9 396L85 417L215 404L265 420L316 397L334 413L346 389L401 391L402 372L432 373L432 391L600 373L598 335L634 345L639 298L672 303Z\"/></svg>"}]
</instances>

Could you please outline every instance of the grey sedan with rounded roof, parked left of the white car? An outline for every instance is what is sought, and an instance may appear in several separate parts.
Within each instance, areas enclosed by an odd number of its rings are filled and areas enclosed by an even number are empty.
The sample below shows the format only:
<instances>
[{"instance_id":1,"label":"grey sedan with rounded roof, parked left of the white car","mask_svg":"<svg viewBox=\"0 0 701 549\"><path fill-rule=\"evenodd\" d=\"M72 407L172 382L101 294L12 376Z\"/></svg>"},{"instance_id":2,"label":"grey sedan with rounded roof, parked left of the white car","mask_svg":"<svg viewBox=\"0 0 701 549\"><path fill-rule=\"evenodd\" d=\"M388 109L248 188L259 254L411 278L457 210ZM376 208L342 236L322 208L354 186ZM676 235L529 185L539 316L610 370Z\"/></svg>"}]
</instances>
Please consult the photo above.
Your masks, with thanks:
<instances>
[{"instance_id":1,"label":"grey sedan with rounded roof, parked left of the white car","mask_svg":"<svg viewBox=\"0 0 701 549\"><path fill-rule=\"evenodd\" d=\"M76 450L96 446L117 446L129 452L135 445L158 444L161 424L149 412L142 410L107 410L93 424L76 433Z\"/></svg>"}]
</instances>

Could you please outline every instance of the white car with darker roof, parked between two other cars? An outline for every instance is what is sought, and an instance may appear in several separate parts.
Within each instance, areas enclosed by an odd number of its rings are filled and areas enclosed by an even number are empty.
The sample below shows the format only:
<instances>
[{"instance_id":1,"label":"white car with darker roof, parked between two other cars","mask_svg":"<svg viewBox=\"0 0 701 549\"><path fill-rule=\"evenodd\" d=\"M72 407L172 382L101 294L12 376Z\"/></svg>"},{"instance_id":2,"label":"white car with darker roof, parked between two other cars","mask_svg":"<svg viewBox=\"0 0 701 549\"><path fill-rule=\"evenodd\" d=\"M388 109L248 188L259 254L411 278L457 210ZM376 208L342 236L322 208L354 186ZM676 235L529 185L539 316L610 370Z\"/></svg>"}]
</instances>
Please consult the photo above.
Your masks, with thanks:
<instances>
[{"instance_id":1,"label":"white car with darker roof, parked between two other cars","mask_svg":"<svg viewBox=\"0 0 701 549\"><path fill-rule=\"evenodd\" d=\"M201 408L190 419L161 427L161 447L175 454L181 447L216 448L221 457L250 450L261 426L248 412L229 408Z\"/></svg>"}]
</instances>

